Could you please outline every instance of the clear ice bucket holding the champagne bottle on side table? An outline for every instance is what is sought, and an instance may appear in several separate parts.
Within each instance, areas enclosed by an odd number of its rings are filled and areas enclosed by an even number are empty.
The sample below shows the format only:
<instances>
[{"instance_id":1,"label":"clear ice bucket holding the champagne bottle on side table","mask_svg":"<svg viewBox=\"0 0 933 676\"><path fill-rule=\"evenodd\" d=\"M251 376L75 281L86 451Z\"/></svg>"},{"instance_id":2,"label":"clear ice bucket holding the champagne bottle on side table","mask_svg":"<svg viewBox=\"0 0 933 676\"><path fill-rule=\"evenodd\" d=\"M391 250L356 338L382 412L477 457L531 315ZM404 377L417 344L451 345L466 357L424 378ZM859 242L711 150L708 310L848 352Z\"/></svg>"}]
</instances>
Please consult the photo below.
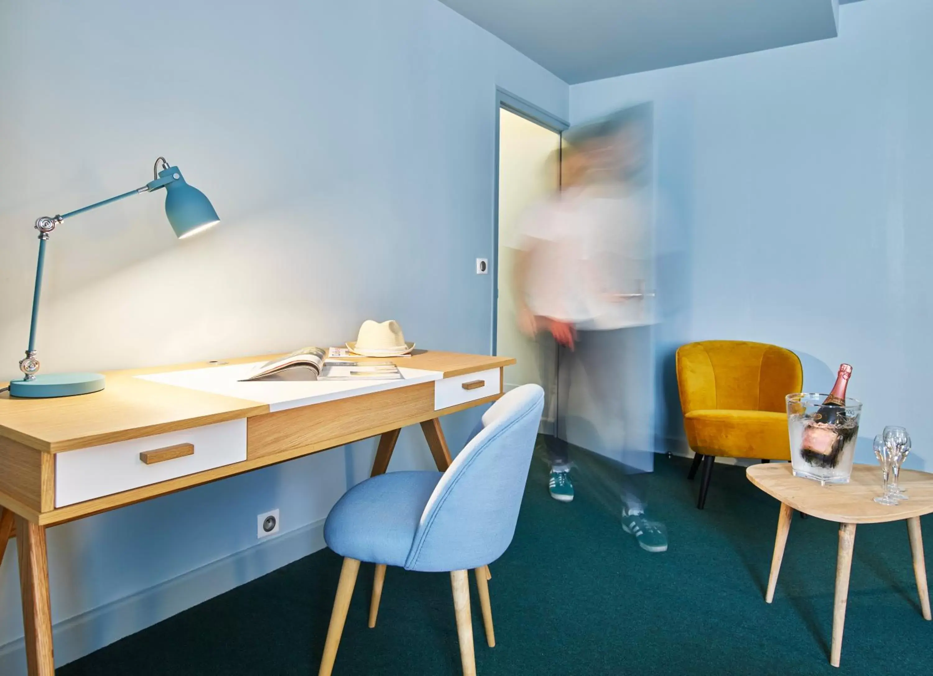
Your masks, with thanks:
<instances>
[{"instance_id":1,"label":"clear ice bucket holding the champagne bottle on side table","mask_svg":"<svg viewBox=\"0 0 933 676\"><path fill-rule=\"evenodd\" d=\"M829 394L787 394L787 432L794 476L847 484L856 455L862 403L824 404Z\"/></svg>"}]
</instances>

